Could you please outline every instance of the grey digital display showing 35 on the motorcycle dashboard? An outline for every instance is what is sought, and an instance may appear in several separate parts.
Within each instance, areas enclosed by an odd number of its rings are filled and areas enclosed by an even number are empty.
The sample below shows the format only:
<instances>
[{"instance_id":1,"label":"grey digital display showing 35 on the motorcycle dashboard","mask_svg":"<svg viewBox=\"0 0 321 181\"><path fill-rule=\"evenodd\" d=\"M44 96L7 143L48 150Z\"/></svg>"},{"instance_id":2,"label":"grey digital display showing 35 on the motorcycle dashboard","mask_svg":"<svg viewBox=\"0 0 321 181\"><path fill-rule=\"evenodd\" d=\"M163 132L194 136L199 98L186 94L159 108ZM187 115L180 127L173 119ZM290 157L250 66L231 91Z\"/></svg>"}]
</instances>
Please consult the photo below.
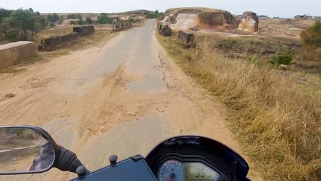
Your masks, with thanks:
<instances>
[{"instance_id":1,"label":"grey digital display showing 35 on the motorcycle dashboard","mask_svg":"<svg viewBox=\"0 0 321 181\"><path fill-rule=\"evenodd\" d=\"M186 181L216 181L219 173L201 162L185 162L184 180Z\"/></svg>"}]
</instances>

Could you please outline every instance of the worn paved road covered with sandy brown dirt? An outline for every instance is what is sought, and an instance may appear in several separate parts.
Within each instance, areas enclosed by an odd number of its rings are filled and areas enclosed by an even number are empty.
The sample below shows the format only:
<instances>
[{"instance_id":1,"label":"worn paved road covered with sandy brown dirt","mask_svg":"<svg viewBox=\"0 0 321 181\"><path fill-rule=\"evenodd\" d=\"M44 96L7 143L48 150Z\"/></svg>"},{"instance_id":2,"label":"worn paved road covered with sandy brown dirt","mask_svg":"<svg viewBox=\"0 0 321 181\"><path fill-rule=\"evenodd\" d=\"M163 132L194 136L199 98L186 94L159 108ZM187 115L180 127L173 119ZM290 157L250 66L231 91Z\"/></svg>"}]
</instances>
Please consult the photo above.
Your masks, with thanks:
<instances>
[{"instance_id":1,"label":"worn paved road covered with sandy brown dirt","mask_svg":"<svg viewBox=\"0 0 321 181\"><path fill-rule=\"evenodd\" d=\"M108 156L145 156L178 134L216 138L239 151L224 109L169 60L154 38L154 21L122 32L102 47L75 51L16 75L0 75L0 125L39 125L78 154L90 170ZM51 169L0 180L67 180Z\"/></svg>"}]
</instances>

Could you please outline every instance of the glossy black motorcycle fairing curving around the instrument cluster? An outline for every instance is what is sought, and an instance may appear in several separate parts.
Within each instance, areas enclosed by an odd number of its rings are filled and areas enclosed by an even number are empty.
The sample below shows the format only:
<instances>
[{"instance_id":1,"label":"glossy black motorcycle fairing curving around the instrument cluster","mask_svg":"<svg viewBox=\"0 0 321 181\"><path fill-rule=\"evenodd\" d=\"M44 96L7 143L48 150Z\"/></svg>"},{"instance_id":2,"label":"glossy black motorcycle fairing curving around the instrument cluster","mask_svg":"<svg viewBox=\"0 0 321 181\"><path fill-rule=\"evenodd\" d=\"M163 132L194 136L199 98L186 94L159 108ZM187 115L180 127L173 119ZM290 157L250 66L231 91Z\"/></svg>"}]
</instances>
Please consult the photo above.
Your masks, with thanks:
<instances>
[{"instance_id":1,"label":"glossy black motorcycle fairing curving around the instrument cluster","mask_svg":"<svg viewBox=\"0 0 321 181\"><path fill-rule=\"evenodd\" d=\"M145 160L157 176L160 165L168 159L204 160L227 174L228 180L248 180L248 163L226 145L202 136L178 136L156 146Z\"/></svg>"}]
</instances>

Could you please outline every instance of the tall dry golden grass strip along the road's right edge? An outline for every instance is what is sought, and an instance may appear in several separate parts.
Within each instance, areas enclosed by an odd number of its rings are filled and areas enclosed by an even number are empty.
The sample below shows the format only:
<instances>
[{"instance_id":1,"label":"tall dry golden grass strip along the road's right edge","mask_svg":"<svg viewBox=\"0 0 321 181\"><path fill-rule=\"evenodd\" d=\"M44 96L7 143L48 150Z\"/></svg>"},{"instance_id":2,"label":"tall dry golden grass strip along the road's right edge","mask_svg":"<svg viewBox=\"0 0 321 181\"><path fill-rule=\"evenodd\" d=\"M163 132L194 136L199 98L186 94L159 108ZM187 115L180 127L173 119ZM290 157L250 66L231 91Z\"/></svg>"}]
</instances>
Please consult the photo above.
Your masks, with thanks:
<instances>
[{"instance_id":1,"label":"tall dry golden grass strip along the road's right edge","mask_svg":"<svg viewBox=\"0 0 321 181\"><path fill-rule=\"evenodd\" d=\"M320 96L269 67L158 36L182 69L230 110L231 130L266 180L321 180Z\"/></svg>"}]
</instances>

